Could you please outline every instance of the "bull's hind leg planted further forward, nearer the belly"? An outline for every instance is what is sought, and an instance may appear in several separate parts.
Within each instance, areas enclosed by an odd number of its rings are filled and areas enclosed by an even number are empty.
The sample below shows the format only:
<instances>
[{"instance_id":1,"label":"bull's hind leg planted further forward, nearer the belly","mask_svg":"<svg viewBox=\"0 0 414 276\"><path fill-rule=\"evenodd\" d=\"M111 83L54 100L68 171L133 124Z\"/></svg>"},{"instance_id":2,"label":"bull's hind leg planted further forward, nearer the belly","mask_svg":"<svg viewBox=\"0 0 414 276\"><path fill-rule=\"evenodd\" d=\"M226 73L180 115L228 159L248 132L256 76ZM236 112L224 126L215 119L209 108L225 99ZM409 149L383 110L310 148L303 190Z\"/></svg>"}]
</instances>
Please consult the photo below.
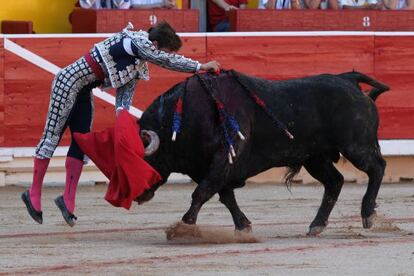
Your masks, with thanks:
<instances>
[{"instance_id":1,"label":"bull's hind leg planted further forward, nearer the belly","mask_svg":"<svg viewBox=\"0 0 414 276\"><path fill-rule=\"evenodd\" d=\"M309 226L308 235L318 235L328 225L328 218L341 192L344 177L327 158L312 158L304 166L325 187L321 206Z\"/></svg>"}]
</instances>

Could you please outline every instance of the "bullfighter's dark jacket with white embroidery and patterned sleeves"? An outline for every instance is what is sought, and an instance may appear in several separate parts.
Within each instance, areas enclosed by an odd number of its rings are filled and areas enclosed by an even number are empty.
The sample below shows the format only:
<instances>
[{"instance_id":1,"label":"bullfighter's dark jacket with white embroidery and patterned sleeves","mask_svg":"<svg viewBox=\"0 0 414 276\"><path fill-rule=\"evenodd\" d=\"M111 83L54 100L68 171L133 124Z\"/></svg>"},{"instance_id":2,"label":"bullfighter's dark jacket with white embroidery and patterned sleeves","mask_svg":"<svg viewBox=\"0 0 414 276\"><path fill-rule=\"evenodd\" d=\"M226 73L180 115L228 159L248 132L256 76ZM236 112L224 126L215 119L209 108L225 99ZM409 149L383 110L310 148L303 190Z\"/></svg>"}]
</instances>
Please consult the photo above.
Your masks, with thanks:
<instances>
[{"instance_id":1,"label":"bullfighter's dark jacket with white embroidery and patterned sleeves","mask_svg":"<svg viewBox=\"0 0 414 276\"><path fill-rule=\"evenodd\" d=\"M166 69L180 72L196 72L201 64L181 55L158 50L148 39L145 31L127 28L95 44L92 50L99 53L105 71L105 87L117 89L116 107L129 109L136 81L149 80L147 61Z\"/></svg>"}]
</instances>

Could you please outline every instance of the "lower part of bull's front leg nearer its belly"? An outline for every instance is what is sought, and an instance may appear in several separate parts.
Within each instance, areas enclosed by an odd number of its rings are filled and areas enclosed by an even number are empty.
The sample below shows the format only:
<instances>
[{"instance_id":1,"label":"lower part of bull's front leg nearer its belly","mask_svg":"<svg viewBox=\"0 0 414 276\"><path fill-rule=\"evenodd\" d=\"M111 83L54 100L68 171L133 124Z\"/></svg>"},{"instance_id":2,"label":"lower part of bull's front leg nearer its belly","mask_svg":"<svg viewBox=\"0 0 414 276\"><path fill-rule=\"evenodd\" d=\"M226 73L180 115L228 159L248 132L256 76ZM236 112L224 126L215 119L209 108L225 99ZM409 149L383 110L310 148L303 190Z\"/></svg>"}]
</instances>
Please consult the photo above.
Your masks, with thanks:
<instances>
[{"instance_id":1,"label":"lower part of bull's front leg nearer its belly","mask_svg":"<svg viewBox=\"0 0 414 276\"><path fill-rule=\"evenodd\" d=\"M227 209L229 209L230 214L233 217L236 230L250 232L251 222L237 205L236 198L234 197L234 190L231 188L224 188L219 192L219 195L220 202L223 203Z\"/></svg>"}]
</instances>

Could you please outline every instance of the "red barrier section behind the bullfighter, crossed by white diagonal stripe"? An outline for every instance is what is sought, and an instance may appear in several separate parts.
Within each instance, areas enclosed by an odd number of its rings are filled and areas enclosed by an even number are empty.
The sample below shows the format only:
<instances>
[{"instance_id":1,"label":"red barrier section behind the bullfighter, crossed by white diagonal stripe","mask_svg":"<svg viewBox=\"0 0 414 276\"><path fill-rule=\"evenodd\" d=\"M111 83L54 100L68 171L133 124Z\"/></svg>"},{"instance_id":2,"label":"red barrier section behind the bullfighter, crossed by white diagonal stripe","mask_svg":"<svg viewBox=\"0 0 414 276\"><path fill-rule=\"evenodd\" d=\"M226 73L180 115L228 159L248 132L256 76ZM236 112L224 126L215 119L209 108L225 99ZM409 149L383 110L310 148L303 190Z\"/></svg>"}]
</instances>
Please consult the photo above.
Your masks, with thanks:
<instances>
[{"instance_id":1,"label":"red barrier section behind the bullfighter, crossed by white diagonal stripe","mask_svg":"<svg viewBox=\"0 0 414 276\"><path fill-rule=\"evenodd\" d=\"M79 41L77 40L75 40L77 43L72 43L72 39L41 40L38 43L31 43L28 39L16 42L22 44L28 50L58 63L66 62L73 55L65 54L66 51L70 52L71 49L74 49L75 52L79 52L79 49L82 48L82 43L78 44ZM90 43L89 41L87 42L88 44ZM204 37L184 38L183 42L181 54L200 61L205 60L206 43ZM71 45L77 46L71 48ZM6 118L5 127L10 131L7 133L1 132L2 134L4 133L3 142L0 140L1 145L35 146L43 131L51 82L54 76L10 52L6 53L6 66L9 69L6 74L5 86L7 93L4 98L3 116ZM150 74L152 79L149 82L140 81L137 86L134 106L141 109L146 108L159 94L168 90L175 83L184 80L189 75L172 72L152 64L150 64ZM113 89L108 92L112 95L115 94ZM1 112L0 107L0 116ZM35 114L36 116L34 116ZM95 130L102 130L112 126L114 117L114 107L95 98L93 128ZM69 135L65 134L61 144L68 145L68 143Z\"/></svg>"}]
</instances>

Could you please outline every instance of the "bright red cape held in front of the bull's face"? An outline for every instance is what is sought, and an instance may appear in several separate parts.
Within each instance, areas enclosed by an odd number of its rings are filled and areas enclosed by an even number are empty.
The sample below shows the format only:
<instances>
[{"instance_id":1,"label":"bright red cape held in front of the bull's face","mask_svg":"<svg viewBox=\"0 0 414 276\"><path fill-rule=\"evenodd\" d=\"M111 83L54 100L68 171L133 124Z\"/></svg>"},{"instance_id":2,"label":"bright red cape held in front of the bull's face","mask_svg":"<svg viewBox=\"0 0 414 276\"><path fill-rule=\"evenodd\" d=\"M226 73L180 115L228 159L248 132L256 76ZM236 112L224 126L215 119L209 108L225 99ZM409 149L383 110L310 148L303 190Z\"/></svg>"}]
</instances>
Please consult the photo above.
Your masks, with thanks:
<instances>
[{"instance_id":1,"label":"bright red cape held in front of the bull's face","mask_svg":"<svg viewBox=\"0 0 414 276\"><path fill-rule=\"evenodd\" d=\"M116 207L129 209L132 201L159 182L159 173L144 158L139 126L122 110L113 128L101 132L74 133L83 152L108 177L105 199Z\"/></svg>"}]
</instances>

